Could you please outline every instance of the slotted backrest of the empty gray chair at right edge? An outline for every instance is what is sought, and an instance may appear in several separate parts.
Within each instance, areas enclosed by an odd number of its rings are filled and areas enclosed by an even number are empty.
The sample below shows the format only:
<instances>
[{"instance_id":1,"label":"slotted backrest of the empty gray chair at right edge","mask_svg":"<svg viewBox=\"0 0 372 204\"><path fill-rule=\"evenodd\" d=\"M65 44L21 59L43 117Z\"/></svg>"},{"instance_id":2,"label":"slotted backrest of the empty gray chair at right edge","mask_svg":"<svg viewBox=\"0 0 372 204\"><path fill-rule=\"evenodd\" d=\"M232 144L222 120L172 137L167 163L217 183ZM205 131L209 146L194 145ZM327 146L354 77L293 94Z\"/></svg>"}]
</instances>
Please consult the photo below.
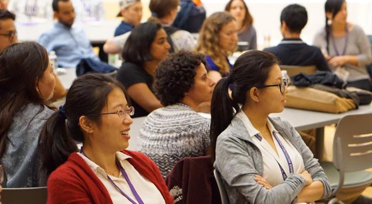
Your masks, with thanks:
<instances>
[{"instance_id":1,"label":"slotted backrest of the empty gray chair at right edge","mask_svg":"<svg viewBox=\"0 0 372 204\"><path fill-rule=\"evenodd\" d=\"M347 115L337 123L333 162L340 172L372 168L372 113Z\"/></svg>"}]
</instances>

